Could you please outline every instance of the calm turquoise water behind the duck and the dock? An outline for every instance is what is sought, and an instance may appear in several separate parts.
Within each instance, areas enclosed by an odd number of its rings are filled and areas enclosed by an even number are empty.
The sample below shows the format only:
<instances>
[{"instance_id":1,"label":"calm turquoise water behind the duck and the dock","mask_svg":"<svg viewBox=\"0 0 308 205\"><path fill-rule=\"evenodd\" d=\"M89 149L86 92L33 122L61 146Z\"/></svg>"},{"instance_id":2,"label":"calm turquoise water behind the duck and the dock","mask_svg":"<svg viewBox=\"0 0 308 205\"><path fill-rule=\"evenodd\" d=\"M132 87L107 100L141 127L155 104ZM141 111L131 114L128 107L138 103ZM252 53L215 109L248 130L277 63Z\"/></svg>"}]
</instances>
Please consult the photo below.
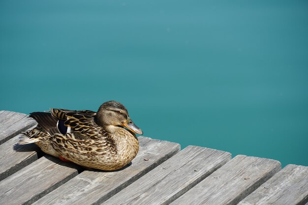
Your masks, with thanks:
<instances>
[{"instance_id":1,"label":"calm turquoise water behind the duck and the dock","mask_svg":"<svg viewBox=\"0 0 308 205\"><path fill-rule=\"evenodd\" d=\"M308 166L308 1L1 0L0 109L122 102L144 135Z\"/></svg>"}]
</instances>

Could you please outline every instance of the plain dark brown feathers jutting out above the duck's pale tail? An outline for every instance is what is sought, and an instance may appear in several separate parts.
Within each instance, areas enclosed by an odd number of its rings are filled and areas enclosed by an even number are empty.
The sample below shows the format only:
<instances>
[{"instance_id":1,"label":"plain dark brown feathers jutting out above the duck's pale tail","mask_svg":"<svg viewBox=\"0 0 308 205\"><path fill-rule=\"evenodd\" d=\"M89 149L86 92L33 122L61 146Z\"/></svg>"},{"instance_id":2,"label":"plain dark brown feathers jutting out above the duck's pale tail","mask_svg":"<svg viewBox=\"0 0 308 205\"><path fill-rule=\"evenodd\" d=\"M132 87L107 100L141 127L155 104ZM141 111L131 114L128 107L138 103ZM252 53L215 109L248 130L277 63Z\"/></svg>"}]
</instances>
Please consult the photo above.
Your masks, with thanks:
<instances>
[{"instance_id":1,"label":"plain dark brown feathers jutting out above the duck's pale tail","mask_svg":"<svg viewBox=\"0 0 308 205\"><path fill-rule=\"evenodd\" d=\"M58 119L53 117L51 113L45 113L45 112L34 112L30 113L30 117L35 119L35 121L47 132L49 135L52 135L50 133L50 130L53 130L55 127L57 128L57 122Z\"/></svg>"}]
</instances>

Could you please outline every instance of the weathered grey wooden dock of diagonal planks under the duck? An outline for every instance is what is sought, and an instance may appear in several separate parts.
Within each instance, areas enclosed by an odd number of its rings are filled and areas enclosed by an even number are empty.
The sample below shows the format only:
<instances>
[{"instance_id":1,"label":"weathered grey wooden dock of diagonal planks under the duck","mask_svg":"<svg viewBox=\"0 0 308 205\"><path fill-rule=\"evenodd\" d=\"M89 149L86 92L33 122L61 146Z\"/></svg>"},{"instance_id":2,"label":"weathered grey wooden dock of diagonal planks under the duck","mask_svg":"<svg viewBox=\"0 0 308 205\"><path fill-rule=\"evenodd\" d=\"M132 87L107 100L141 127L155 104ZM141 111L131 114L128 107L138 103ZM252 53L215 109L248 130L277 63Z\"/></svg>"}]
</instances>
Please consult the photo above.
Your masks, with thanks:
<instances>
[{"instance_id":1,"label":"weathered grey wooden dock of diagonal planks under the duck","mask_svg":"<svg viewBox=\"0 0 308 205\"><path fill-rule=\"evenodd\" d=\"M85 170L17 145L36 122L0 111L1 205L308 205L308 167L139 137L119 171Z\"/></svg>"}]
</instances>

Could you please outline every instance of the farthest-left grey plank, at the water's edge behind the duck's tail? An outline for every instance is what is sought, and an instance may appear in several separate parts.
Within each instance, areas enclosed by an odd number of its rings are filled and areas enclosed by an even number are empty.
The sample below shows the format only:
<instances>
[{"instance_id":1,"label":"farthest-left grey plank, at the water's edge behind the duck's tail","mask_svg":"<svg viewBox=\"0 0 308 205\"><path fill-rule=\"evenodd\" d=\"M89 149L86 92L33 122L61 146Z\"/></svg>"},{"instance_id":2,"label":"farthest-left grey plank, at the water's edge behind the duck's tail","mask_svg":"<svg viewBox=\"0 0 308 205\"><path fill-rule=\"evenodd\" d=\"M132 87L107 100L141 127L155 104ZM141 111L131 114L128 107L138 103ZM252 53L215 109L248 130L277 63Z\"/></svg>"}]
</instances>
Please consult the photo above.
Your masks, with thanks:
<instances>
[{"instance_id":1,"label":"farthest-left grey plank, at the water's edge behind the duck's tail","mask_svg":"<svg viewBox=\"0 0 308 205\"><path fill-rule=\"evenodd\" d=\"M7 140L20 134L22 131L32 127L35 124L35 120L25 114L11 111L1 111L0 144L6 142Z\"/></svg>"}]
</instances>

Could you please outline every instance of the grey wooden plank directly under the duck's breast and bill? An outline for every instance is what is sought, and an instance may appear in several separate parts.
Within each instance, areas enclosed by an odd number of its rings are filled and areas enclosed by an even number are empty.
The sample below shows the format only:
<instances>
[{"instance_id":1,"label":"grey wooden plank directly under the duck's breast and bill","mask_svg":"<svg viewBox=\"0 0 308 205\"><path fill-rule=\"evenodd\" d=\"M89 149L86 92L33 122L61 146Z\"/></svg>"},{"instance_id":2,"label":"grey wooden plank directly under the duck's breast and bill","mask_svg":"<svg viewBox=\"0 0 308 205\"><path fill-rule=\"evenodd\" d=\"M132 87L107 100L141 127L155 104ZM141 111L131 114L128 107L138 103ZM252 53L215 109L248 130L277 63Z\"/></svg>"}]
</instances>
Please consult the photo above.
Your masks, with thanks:
<instances>
[{"instance_id":1,"label":"grey wooden plank directly under the duck's breast and bill","mask_svg":"<svg viewBox=\"0 0 308 205\"><path fill-rule=\"evenodd\" d=\"M50 194L37 205L98 204L152 170L180 150L180 145L139 137L140 149L129 166L114 172L84 171Z\"/></svg>"}]
</instances>

